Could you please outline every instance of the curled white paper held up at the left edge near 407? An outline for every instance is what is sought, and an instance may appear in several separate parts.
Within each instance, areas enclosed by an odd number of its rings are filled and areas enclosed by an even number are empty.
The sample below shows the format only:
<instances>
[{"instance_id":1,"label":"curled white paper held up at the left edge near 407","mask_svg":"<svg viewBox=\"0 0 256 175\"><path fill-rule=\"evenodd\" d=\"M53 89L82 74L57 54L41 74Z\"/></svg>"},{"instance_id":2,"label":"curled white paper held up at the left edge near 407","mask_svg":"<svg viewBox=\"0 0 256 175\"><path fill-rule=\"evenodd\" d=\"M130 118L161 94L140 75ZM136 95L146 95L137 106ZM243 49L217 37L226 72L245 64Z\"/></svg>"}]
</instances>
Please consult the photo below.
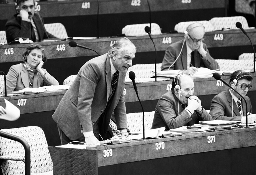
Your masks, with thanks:
<instances>
[{"instance_id":1,"label":"curled white paper held up at the left edge near 407","mask_svg":"<svg viewBox=\"0 0 256 175\"><path fill-rule=\"evenodd\" d=\"M8 100L4 99L4 101L6 103L6 114L0 115L0 119L9 121L17 120L20 117L20 110Z\"/></svg>"}]
</instances>

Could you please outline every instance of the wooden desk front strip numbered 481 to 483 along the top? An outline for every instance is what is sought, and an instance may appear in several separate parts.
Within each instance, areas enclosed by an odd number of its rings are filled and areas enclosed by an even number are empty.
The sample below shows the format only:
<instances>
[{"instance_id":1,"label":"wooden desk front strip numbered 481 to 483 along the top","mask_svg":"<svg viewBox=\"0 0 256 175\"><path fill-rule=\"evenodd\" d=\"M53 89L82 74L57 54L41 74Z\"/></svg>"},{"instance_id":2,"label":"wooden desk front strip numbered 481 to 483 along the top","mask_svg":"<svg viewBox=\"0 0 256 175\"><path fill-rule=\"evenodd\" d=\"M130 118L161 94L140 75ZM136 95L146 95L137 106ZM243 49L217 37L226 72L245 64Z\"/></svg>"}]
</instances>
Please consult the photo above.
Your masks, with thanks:
<instances>
[{"instance_id":1,"label":"wooden desk front strip numbered 481 to 483 along the top","mask_svg":"<svg viewBox=\"0 0 256 175\"><path fill-rule=\"evenodd\" d=\"M39 2L38 11L43 17L79 16L99 14L117 14L133 12L172 11L226 8L226 0L72 0L72 1L43 1ZM149 4L148 4L149 3ZM58 10L56 10L58 9ZM15 14L14 3L0 5L0 20L8 20Z\"/></svg>"}]
</instances>

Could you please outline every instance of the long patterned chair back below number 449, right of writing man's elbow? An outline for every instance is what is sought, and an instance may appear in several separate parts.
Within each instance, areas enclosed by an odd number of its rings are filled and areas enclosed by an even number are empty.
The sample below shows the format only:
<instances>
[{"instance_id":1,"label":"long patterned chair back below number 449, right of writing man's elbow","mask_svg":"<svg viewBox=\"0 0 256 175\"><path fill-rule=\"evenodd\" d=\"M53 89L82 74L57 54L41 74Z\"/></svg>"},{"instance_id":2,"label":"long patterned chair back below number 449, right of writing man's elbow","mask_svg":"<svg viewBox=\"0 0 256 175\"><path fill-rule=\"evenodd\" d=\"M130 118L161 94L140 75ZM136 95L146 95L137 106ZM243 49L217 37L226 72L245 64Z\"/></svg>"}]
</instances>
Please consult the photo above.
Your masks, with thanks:
<instances>
[{"instance_id":1,"label":"long patterned chair back below number 449, right of writing man's elbow","mask_svg":"<svg viewBox=\"0 0 256 175\"><path fill-rule=\"evenodd\" d=\"M253 61L248 60L226 60L216 59L220 66L220 71L237 71L237 70L251 70L253 68Z\"/></svg>"}]
</instances>

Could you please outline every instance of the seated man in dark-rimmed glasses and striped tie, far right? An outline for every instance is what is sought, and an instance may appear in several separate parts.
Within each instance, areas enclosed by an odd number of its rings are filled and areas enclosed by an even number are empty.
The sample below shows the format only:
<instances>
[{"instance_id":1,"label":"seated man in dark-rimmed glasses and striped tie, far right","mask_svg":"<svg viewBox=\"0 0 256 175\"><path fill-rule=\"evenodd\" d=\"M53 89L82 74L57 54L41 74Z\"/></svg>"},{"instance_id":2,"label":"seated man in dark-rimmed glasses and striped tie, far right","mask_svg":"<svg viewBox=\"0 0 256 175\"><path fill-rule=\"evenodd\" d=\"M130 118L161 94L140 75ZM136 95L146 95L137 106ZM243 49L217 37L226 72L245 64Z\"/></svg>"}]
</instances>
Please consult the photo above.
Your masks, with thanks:
<instances>
[{"instance_id":1,"label":"seated man in dark-rimmed glasses and striped tie, far right","mask_svg":"<svg viewBox=\"0 0 256 175\"><path fill-rule=\"evenodd\" d=\"M235 71L230 76L230 85L240 93L247 102L248 123L256 122L256 114L251 114L252 105L249 97L246 96L248 90L252 88L253 77L245 71ZM244 100L233 89L229 88L216 95L211 103L210 114L213 120L232 120L246 123L246 105Z\"/></svg>"}]
</instances>

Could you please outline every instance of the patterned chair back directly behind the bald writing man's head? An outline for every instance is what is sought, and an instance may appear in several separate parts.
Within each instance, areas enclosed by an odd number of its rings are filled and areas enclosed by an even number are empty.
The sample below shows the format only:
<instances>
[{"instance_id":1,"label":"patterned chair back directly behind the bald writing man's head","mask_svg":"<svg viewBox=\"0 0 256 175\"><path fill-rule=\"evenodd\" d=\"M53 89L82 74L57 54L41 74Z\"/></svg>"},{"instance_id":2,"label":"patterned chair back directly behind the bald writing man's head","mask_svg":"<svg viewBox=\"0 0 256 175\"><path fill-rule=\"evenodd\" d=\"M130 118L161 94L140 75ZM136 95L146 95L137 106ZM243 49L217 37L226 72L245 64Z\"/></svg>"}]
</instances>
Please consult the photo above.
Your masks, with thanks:
<instances>
[{"instance_id":1,"label":"patterned chair back directly behind the bald writing man's head","mask_svg":"<svg viewBox=\"0 0 256 175\"><path fill-rule=\"evenodd\" d=\"M174 30L178 31L178 33L184 33L186 28L192 23L201 23L205 27L205 32L212 32L214 31L214 26L209 21L187 21L187 22L180 22L175 25Z\"/></svg>"}]
</instances>

